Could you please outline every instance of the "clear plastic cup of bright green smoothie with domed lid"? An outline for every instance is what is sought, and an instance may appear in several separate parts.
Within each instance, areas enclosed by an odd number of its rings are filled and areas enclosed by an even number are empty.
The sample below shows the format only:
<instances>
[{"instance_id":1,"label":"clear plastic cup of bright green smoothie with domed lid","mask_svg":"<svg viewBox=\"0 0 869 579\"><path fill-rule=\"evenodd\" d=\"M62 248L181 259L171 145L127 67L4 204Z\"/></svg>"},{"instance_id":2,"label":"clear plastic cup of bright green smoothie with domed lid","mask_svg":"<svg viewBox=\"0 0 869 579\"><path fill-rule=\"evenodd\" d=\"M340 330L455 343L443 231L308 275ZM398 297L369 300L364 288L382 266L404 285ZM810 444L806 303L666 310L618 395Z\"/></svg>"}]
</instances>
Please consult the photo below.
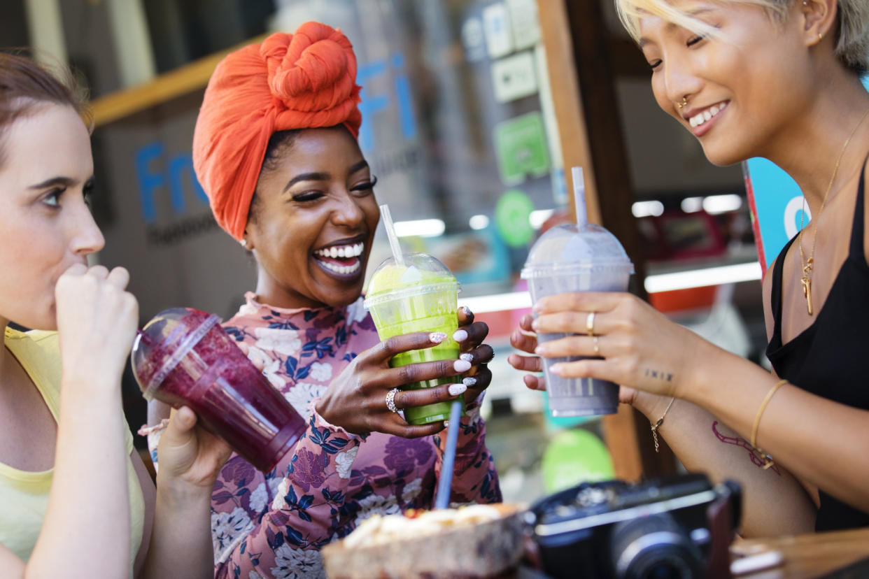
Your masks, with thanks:
<instances>
[{"instance_id":1,"label":"clear plastic cup of bright green smoothie with domed lid","mask_svg":"<svg viewBox=\"0 0 869 579\"><path fill-rule=\"evenodd\" d=\"M458 329L459 282L447 266L427 253L404 253L404 265L395 258L377 266L368 282L365 307L375 321L381 340L412 332L443 332L447 339L422 350L396 354L392 367L434 360L457 359L459 345L453 339ZM456 378L436 378L404 385L404 390L453 384ZM461 397L464 415L464 396ZM449 418L450 402L404 409L408 424L429 424Z\"/></svg>"}]
</instances>

